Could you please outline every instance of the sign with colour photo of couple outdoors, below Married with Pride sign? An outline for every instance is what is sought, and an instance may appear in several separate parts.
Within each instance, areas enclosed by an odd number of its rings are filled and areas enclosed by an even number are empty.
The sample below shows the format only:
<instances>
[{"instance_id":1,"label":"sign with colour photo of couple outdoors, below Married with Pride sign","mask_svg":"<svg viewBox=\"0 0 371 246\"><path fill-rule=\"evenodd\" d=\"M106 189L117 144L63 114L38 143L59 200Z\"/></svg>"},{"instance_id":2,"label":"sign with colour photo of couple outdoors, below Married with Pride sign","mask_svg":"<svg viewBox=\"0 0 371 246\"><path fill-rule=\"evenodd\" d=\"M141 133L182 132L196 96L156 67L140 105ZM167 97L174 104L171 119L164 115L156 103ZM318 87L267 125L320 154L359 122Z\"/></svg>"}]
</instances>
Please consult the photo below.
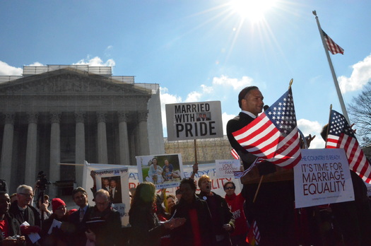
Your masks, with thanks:
<instances>
[{"instance_id":1,"label":"sign with colour photo of couple outdoors, below Married with Pride sign","mask_svg":"<svg viewBox=\"0 0 371 246\"><path fill-rule=\"evenodd\" d=\"M156 189L179 186L183 177L182 164L180 154L136 156L139 181L153 182Z\"/></svg>"}]
</instances>

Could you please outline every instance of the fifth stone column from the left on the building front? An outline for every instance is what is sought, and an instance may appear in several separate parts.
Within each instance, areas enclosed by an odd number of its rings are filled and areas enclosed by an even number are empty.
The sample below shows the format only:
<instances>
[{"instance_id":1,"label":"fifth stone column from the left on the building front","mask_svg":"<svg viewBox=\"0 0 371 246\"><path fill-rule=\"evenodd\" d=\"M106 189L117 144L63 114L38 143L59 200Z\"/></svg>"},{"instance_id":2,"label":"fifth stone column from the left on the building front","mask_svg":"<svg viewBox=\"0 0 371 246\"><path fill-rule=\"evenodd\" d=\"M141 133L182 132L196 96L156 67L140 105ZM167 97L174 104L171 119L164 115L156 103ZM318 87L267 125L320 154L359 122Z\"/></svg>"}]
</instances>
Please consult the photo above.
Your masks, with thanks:
<instances>
[{"instance_id":1,"label":"fifth stone column from the left on the building front","mask_svg":"<svg viewBox=\"0 0 371 246\"><path fill-rule=\"evenodd\" d=\"M97 112L98 122L98 163L107 164L107 132L105 127L105 118L107 112Z\"/></svg>"}]
</instances>

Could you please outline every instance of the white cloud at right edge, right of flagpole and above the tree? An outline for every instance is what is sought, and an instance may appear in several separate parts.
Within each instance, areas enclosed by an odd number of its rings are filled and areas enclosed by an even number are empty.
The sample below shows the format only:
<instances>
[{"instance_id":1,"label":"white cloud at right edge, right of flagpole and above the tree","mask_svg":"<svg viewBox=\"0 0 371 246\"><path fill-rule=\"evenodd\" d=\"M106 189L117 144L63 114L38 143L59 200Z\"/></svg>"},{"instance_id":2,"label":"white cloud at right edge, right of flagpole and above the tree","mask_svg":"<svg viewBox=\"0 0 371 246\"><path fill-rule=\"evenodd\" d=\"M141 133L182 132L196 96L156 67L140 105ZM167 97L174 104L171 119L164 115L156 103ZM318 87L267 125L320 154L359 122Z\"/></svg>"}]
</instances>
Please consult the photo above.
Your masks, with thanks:
<instances>
[{"instance_id":1,"label":"white cloud at right edge, right of flagpole and above the tree","mask_svg":"<svg viewBox=\"0 0 371 246\"><path fill-rule=\"evenodd\" d=\"M351 66L353 72L350 78L346 76L338 77L338 83L341 91L346 93L347 91L360 90L367 84L371 79L371 54L367 56L363 61Z\"/></svg>"}]
</instances>

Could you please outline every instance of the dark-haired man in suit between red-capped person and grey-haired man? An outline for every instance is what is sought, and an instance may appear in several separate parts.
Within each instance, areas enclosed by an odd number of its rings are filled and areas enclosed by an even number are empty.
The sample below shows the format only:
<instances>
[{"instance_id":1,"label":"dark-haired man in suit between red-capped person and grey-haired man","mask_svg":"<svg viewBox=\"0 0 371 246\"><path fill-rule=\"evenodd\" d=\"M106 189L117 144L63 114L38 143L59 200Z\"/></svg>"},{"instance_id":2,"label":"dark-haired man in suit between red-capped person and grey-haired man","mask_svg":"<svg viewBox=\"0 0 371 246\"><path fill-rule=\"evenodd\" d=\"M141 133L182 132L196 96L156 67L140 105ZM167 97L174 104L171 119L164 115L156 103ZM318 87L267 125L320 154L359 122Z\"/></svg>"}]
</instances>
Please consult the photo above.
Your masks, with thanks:
<instances>
[{"instance_id":1,"label":"dark-haired man in suit between red-capped person and grey-haired man","mask_svg":"<svg viewBox=\"0 0 371 246\"><path fill-rule=\"evenodd\" d=\"M90 206L88 204L88 193L82 187L77 187L72 191L72 199L78 206L78 211L71 213L69 222L73 225L71 232L71 245L83 246L86 245L86 220Z\"/></svg>"}]
</instances>

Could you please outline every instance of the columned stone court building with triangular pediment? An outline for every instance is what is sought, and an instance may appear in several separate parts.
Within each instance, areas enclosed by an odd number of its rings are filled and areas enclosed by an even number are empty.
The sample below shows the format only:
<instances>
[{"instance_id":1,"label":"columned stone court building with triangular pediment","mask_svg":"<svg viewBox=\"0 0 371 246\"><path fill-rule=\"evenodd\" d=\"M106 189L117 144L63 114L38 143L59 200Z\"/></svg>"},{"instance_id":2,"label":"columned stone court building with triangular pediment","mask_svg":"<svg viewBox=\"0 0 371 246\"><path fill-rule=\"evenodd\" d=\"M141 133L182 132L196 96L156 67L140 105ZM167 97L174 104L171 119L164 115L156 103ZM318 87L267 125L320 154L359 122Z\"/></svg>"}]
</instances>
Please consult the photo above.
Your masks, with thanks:
<instances>
[{"instance_id":1,"label":"columned stone court building with triangular pediment","mask_svg":"<svg viewBox=\"0 0 371 246\"><path fill-rule=\"evenodd\" d=\"M0 76L0 179L8 192L81 186L88 163L136 165L135 156L165 153L158 84L112 76L109 66L24 66ZM80 165L64 165L71 163Z\"/></svg>"}]
</instances>

